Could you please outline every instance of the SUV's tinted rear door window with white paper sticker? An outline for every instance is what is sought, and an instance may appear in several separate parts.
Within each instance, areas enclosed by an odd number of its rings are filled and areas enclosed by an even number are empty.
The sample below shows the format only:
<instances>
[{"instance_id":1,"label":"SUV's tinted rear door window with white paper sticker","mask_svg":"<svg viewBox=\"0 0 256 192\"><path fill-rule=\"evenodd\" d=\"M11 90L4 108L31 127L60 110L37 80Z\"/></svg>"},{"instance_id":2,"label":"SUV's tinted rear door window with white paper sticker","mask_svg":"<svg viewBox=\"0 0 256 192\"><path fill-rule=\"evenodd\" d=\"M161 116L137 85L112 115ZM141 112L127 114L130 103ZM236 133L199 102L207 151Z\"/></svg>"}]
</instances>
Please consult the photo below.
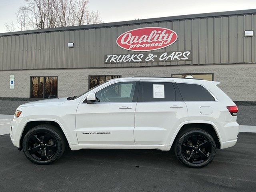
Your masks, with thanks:
<instances>
[{"instance_id":1,"label":"SUV's tinted rear door window with white paper sticker","mask_svg":"<svg viewBox=\"0 0 256 192\"><path fill-rule=\"evenodd\" d=\"M168 82L143 82L140 90L142 102L175 101L175 89L172 83Z\"/></svg>"}]
</instances>

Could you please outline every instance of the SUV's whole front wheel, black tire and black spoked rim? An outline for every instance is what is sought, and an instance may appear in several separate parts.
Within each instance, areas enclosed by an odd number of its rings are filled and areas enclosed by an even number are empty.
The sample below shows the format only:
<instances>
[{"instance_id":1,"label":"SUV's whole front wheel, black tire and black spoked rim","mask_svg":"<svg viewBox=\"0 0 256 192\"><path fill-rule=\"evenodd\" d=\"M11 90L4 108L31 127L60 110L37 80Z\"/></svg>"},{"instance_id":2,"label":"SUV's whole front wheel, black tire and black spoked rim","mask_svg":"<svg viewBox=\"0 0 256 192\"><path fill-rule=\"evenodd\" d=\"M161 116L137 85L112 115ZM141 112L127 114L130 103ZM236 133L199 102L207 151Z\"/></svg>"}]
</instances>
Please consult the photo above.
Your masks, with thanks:
<instances>
[{"instance_id":1,"label":"SUV's whole front wheel, black tire and black spoked rim","mask_svg":"<svg viewBox=\"0 0 256 192\"><path fill-rule=\"evenodd\" d=\"M24 136L23 152L35 164L51 164L64 153L66 140L62 132L51 125L39 125Z\"/></svg>"}]
</instances>

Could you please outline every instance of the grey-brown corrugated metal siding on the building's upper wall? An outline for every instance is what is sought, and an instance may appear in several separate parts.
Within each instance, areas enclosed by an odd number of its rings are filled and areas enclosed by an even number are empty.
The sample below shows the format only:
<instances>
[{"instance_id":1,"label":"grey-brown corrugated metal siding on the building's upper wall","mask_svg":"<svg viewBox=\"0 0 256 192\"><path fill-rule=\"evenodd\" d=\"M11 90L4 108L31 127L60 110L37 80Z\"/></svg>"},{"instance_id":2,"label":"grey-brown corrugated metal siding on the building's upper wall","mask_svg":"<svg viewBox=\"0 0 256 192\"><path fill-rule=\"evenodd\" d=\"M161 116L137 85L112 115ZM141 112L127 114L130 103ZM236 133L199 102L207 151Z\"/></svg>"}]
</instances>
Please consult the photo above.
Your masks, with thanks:
<instances>
[{"instance_id":1,"label":"grey-brown corrugated metal siding on the building's upper wall","mask_svg":"<svg viewBox=\"0 0 256 192\"><path fill-rule=\"evenodd\" d=\"M134 53L116 44L120 34L152 26L178 34L174 44L152 52L191 50L192 61L104 64L105 54ZM245 38L245 30L254 36ZM0 70L256 63L255 33L256 14L247 14L0 36Z\"/></svg>"}]
</instances>

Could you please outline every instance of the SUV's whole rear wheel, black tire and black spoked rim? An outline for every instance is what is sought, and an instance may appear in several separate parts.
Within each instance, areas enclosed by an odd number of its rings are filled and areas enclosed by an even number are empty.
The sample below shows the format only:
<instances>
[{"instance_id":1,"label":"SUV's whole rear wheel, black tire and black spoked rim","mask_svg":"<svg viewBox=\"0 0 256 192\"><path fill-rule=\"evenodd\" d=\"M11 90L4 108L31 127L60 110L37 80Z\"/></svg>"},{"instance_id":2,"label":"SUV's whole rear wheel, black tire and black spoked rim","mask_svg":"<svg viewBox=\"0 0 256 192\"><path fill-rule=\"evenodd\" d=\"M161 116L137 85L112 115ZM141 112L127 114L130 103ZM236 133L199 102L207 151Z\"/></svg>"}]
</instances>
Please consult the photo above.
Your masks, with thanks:
<instances>
[{"instance_id":1,"label":"SUV's whole rear wheel, black tire and black spoked rim","mask_svg":"<svg viewBox=\"0 0 256 192\"><path fill-rule=\"evenodd\" d=\"M202 168L212 162L216 144L208 132L193 128L178 136L174 150L178 160L184 165Z\"/></svg>"}]
</instances>

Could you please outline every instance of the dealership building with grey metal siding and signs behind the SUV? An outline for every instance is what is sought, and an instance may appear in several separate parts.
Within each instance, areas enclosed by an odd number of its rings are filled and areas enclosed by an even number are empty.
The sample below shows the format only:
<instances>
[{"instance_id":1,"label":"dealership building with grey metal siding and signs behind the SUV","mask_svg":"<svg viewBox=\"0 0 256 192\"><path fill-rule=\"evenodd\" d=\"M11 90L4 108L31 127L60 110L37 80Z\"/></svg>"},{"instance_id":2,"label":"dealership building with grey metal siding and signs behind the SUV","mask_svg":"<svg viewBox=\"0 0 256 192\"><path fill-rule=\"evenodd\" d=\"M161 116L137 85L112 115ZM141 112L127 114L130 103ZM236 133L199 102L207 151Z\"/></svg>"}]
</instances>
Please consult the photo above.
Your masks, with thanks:
<instances>
[{"instance_id":1,"label":"dealership building with grey metal siding and signs behind the SUV","mask_svg":"<svg viewBox=\"0 0 256 192\"><path fill-rule=\"evenodd\" d=\"M255 31L256 9L2 33L0 114L111 78L192 75L220 81L256 125Z\"/></svg>"}]
</instances>

